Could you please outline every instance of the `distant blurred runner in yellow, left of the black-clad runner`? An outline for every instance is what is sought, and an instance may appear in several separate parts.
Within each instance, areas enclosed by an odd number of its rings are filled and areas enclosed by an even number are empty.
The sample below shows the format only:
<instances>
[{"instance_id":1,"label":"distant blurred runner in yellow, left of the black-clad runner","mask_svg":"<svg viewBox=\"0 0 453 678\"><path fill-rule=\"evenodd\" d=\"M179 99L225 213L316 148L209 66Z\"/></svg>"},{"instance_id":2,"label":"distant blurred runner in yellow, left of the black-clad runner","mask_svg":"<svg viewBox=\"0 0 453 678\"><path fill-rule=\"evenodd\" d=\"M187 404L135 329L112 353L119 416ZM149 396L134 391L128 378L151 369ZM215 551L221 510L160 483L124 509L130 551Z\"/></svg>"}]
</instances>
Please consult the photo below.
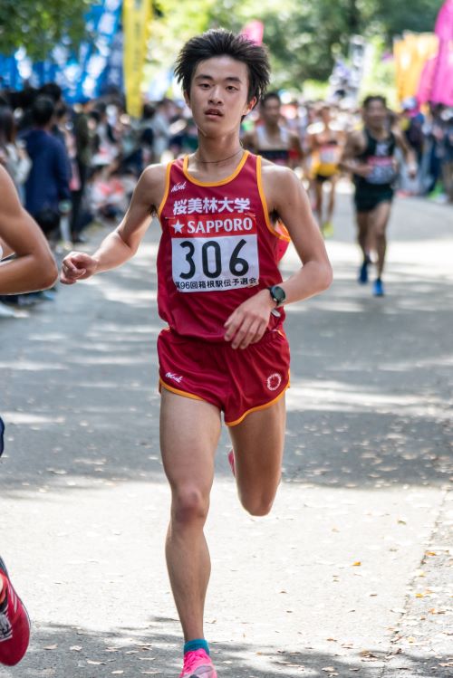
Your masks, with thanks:
<instances>
[{"instance_id":1,"label":"distant blurred runner in yellow, left of the black-clad runner","mask_svg":"<svg viewBox=\"0 0 453 678\"><path fill-rule=\"evenodd\" d=\"M335 208L335 186L339 177L338 164L342 157L344 132L332 119L330 106L324 104L320 110L320 120L308 129L308 138L313 154L313 187L315 196L314 211L325 237L333 235L333 210ZM323 186L331 185L327 212L324 218Z\"/></svg>"}]
</instances>

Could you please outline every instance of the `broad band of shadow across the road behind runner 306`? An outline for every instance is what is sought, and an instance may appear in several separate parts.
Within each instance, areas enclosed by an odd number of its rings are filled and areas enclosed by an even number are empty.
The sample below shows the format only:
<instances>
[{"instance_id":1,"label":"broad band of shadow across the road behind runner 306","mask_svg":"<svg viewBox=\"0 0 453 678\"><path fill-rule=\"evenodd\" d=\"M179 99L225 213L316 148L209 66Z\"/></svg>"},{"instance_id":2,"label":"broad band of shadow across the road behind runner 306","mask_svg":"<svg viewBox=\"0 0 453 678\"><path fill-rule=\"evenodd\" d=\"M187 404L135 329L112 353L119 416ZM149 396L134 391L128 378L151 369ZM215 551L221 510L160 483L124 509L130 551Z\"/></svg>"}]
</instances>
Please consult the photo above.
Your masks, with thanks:
<instances>
[{"instance_id":1,"label":"broad band of shadow across the road behind runner 306","mask_svg":"<svg viewBox=\"0 0 453 678\"><path fill-rule=\"evenodd\" d=\"M120 270L62 288L28 318L2 320L3 496L76 492L78 479L164 482L156 252L151 232ZM293 265L284 262L284 275ZM388 296L376 299L356 284L354 265L340 257L331 290L287 311L284 482L443 485L452 473L453 282L395 262ZM217 473L230 473L225 454Z\"/></svg>"}]
</instances>

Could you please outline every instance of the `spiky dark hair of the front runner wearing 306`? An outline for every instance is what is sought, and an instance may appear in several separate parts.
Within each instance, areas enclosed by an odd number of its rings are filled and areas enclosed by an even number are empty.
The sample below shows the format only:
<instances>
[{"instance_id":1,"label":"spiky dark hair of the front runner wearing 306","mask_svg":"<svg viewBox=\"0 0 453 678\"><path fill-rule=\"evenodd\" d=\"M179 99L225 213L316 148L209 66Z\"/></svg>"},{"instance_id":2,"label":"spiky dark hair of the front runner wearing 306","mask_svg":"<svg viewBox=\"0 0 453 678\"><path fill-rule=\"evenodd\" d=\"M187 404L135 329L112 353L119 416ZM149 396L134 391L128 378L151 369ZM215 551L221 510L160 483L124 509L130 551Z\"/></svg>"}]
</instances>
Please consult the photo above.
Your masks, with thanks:
<instances>
[{"instance_id":1,"label":"spiky dark hair of the front runner wearing 306","mask_svg":"<svg viewBox=\"0 0 453 678\"><path fill-rule=\"evenodd\" d=\"M192 78L199 62L216 56L230 56L246 64L248 70L248 101L261 100L269 84L270 65L267 50L244 35L223 28L212 28L190 38L184 45L175 66L175 75L182 90L189 94Z\"/></svg>"}]
</instances>

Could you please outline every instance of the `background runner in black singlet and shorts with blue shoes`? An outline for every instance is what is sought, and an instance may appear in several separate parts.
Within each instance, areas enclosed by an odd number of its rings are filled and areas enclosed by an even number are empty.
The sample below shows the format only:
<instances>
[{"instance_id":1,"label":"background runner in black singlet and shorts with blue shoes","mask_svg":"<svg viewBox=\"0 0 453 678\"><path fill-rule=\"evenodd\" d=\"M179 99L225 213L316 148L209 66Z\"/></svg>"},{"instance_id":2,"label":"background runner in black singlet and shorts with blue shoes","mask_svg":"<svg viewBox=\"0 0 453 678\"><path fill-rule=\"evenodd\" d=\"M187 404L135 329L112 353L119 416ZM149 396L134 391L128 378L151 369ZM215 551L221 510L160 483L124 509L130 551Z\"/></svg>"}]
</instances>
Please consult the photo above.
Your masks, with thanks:
<instances>
[{"instance_id":1,"label":"background runner in black singlet and shorts with blue shoes","mask_svg":"<svg viewBox=\"0 0 453 678\"><path fill-rule=\"evenodd\" d=\"M346 140L341 165L352 172L355 184L358 243L363 254L359 282L368 282L371 248L377 253L377 278L373 294L384 295L382 271L387 249L386 230L390 218L393 184L397 177L394 158L398 146L408 163L410 177L417 175L414 152L399 129L390 129L389 110L384 97L369 96L363 101L364 129L353 131Z\"/></svg>"}]
</instances>

